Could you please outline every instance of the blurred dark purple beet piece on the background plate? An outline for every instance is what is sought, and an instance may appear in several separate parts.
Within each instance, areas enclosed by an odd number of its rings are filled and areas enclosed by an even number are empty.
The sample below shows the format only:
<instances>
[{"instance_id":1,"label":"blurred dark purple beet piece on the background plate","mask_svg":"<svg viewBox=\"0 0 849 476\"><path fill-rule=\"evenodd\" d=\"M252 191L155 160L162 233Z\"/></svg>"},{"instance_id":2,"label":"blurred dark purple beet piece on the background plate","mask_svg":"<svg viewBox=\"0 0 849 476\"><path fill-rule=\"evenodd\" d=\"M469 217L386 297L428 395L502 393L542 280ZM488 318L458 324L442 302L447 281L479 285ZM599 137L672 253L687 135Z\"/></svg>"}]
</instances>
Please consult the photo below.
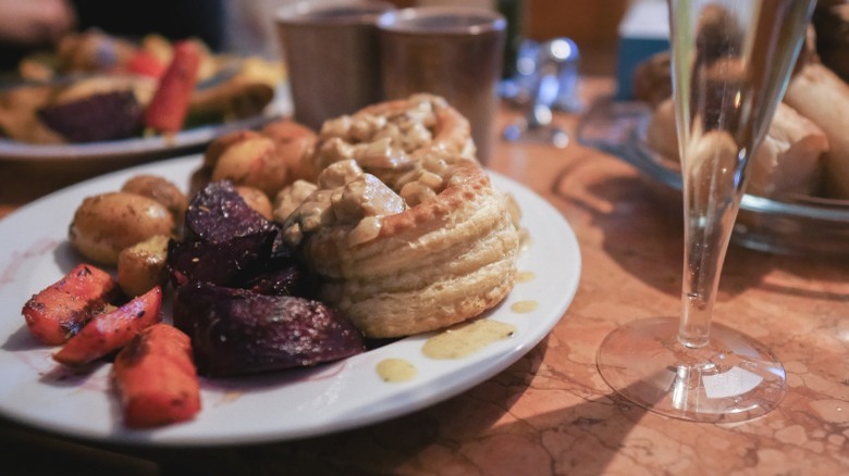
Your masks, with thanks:
<instances>
[{"instance_id":1,"label":"blurred dark purple beet piece on the background plate","mask_svg":"<svg viewBox=\"0 0 849 476\"><path fill-rule=\"evenodd\" d=\"M125 139L143 126L143 109L133 91L91 95L41 108L38 117L71 142Z\"/></svg>"}]
</instances>

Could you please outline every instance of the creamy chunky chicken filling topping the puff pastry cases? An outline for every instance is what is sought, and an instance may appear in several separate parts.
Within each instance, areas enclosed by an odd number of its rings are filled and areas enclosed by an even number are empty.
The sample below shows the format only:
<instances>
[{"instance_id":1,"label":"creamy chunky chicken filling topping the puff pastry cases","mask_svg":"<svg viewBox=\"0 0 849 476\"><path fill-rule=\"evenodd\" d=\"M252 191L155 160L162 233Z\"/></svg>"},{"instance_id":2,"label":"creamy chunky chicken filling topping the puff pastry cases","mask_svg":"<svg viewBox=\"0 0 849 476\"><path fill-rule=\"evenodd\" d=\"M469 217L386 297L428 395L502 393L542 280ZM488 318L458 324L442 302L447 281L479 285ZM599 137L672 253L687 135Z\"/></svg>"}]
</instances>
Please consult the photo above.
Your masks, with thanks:
<instances>
[{"instance_id":1,"label":"creamy chunky chicken filling topping the puff pastry cases","mask_svg":"<svg viewBox=\"0 0 849 476\"><path fill-rule=\"evenodd\" d=\"M349 227L349 246L367 242L380 234L382 217L431 200L448 185L452 164L465 159L426 149L434 137L439 99L419 99L403 112L324 123L315 189L307 193L308 186L295 183L276 198L274 215L290 243L330 225Z\"/></svg>"}]
</instances>

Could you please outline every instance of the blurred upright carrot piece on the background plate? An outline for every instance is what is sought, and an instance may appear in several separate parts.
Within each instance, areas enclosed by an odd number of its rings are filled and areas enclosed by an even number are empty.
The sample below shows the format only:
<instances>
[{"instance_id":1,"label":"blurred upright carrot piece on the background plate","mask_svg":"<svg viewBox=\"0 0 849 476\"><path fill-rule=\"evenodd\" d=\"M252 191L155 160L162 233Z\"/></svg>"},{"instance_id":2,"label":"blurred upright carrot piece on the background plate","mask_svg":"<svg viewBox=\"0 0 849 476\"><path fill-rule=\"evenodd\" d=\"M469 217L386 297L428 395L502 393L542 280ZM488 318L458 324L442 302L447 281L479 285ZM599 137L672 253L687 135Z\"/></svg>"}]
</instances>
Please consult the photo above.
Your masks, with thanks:
<instances>
[{"instance_id":1,"label":"blurred upright carrot piece on the background plate","mask_svg":"<svg viewBox=\"0 0 849 476\"><path fill-rule=\"evenodd\" d=\"M200 51L192 41L174 45L174 57L145 110L145 125L161 133L183 128L200 70Z\"/></svg>"}]
</instances>

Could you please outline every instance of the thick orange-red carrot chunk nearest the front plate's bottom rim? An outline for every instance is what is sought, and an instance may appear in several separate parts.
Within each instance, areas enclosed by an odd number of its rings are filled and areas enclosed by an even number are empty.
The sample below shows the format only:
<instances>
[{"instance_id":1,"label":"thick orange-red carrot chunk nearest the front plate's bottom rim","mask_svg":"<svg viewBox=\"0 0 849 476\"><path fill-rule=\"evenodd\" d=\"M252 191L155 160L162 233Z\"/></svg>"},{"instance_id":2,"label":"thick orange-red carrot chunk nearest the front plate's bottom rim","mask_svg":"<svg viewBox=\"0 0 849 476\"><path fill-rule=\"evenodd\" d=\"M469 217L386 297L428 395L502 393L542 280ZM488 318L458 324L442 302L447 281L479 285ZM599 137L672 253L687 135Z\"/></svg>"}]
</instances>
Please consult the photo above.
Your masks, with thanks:
<instances>
[{"instance_id":1,"label":"thick orange-red carrot chunk nearest the front plate's bottom rim","mask_svg":"<svg viewBox=\"0 0 849 476\"><path fill-rule=\"evenodd\" d=\"M200 384L192 345L176 327L153 324L136 335L118 353L112 376L128 427L184 422L200 411Z\"/></svg>"}]
</instances>

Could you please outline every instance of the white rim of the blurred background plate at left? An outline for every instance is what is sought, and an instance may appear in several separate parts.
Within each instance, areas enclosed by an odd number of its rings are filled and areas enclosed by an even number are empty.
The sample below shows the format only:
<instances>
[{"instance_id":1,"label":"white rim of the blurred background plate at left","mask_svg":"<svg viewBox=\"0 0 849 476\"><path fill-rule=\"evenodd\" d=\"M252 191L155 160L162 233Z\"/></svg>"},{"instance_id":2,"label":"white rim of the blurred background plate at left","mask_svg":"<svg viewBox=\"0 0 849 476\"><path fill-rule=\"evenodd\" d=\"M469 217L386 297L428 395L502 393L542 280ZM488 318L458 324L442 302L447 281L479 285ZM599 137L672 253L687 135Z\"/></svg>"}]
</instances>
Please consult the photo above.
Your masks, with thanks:
<instances>
[{"instance_id":1,"label":"white rim of the blurred background plate at left","mask_svg":"<svg viewBox=\"0 0 849 476\"><path fill-rule=\"evenodd\" d=\"M86 162L135 164L139 159L177 156L181 151L200 147L230 130L259 127L292 112L287 86L282 84L261 114L222 124L209 124L182 130L173 137L136 137L87 143L37 145L0 138L0 162L70 165ZM114 167L112 167L114 170Z\"/></svg>"}]
</instances>

